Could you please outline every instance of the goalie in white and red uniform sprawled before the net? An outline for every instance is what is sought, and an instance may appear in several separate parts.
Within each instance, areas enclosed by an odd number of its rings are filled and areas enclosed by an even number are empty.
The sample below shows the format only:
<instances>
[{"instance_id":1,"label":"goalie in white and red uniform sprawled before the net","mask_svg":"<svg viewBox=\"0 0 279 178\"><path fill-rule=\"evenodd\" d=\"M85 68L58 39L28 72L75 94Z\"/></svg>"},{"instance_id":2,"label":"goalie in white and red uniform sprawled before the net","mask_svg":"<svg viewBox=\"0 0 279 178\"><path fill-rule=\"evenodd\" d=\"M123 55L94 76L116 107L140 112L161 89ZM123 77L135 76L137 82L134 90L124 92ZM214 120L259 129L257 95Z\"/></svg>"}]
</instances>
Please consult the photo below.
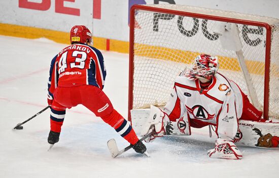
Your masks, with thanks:
<instances>
[{"instance_id":1,"label":"goalie in white and red uniform sprawled before the net","mask_svg":"<svg viewBox=\"0 0 279 178\"><path fill-rule=\"evenodd\" d=\"M163 108L151 106L150 116L142 135L155 131L147 142L167 135L191 135L191 127L216 127L215 149L211 158L241 159L242 153L234 144L238 120L259 121L257 110L238 85L217 73L216 56L198 55L191 66L175 80L170 99Z\"/></svg>"}]
</instances>

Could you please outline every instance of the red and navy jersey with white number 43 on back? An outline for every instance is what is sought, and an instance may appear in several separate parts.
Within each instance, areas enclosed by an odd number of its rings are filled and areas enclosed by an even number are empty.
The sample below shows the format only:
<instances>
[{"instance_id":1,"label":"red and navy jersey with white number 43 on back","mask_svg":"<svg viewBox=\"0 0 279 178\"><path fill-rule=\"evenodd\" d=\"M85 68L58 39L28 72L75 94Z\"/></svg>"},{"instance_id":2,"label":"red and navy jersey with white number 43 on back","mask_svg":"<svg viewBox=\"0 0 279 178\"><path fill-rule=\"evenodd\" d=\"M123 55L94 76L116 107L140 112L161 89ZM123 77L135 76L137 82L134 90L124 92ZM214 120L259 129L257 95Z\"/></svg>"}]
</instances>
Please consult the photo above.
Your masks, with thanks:
<instances>
[{"instance_id":1,"label":"red and navy jersey with white number 43 on back","mask_svg":"<svg viewBox=\"0 0 279 178\"><path fill-rule=\"evenodd\" d=\"M50 99L57 86L94 85L103 88L106 78L101 52L85 44L62 49L51 61L48 91Z\"/></svg>"}]
</instances>

